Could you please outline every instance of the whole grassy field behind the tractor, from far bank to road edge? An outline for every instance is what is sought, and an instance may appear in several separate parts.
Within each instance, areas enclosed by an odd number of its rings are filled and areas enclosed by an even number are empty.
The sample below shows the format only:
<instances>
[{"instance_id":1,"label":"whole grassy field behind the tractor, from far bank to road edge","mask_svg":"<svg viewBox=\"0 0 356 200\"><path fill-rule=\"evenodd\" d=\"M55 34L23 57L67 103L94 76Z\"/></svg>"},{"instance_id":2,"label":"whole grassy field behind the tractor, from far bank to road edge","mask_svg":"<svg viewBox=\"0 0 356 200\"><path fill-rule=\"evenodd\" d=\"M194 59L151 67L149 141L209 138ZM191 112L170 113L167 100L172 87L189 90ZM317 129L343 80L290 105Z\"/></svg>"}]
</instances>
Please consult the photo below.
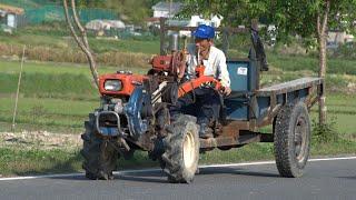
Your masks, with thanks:
<instances>
[{"instance_id":1,"label":"whole grassy field behind the tractor, from far bank to road edge","mask_svg":"<svg viewBox=\"0 0 356 200\"><path fill-rule=\"evenodd\" d=\"M0 43L0 48L4 47L4 50L13 51L16 54L0 59L0 132L2 132L0 134L0 174L81 171L81 157L79 156L81 141L78 138L83 131L83 121L88 113L99 106L99 94L91 81L88 66L70 63L75 61L70 60L71 57L75 57L70 53L66 62L48 62L49 58L49 61L56 61L51 60L55 56L56 59L62 59L61 53L65 51L77 51L76 47L72 47L65 37L38 36L38 33L31 33L31 30L27 31L26 34L17 34L11 39L0 36L1 43L3 42L2 46ZM20 71L18 56L23 43L28 44L28 51L32 56L27 54L29 60L23 66L17 126L12 133L14 93ZM142 61L144 58L157 53L159 47L155 40L91 39L90 43L99 54L108 53L110 57L110 53L115 53L121 59L116 60L120 64L111 64L112 60L109 61L111 58L107 62L99 62L100 73L123 69L134 73L145 73L149 66ZM42 52L43 48L59 53L42 54L44 62L31 61L31 57L38 57L36 52ZM47 53L51 54L51 52ZM268 51L267 54L270 71L261 74L263 86L317 74L317 59L314 57L279 54L273 51ZM142 60L136 62L135 58ZM326 81L328 119L335 123L335 134L339 139L333 143L314 141L312 154L356 153L356 126L354 123L356 120L356 101L354 100L356 97L356 61L332 59ZM312 117L314 120L317 119L317 107L312 110ZM41 138L42 134L44 138ZM66 137L75 138L76 142L67 142ZM49 146L47 140L50 139L63 142L57 141ZM228 163L269 159L273 159L271 144L256 143L228 152L218 150L207 152L201 154L200 161L201 163ZM134 160L120 159L119 162L120 169L157 167L156 162L146 158L145 152L137 152Z\"/></svg>"}]
</instances>

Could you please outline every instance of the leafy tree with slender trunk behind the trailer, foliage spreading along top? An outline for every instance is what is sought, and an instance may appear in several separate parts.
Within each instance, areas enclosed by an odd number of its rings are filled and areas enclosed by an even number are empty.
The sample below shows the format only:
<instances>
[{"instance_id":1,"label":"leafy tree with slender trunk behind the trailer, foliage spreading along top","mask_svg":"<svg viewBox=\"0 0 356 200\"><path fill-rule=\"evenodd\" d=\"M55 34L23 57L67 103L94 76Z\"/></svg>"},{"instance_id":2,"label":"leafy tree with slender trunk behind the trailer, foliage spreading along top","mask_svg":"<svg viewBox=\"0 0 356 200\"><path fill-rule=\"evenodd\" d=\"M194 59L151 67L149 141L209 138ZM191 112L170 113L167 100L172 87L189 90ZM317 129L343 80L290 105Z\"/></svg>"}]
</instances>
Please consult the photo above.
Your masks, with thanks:
<instances>
[{"instance_id":1,"label":"leafy tree with slender trunk behind the trailer, foliage spreading along top","mask_svg":"<svg viewBox=\"0 0 356 200\"><path fill-rule=\"evenodd\" d=\"M265 18L279 36L298 34L318 41L319 77L327 69L326 39L329 29L355 31L356 0L185 0L184 14L221 14L225 24L248 24ZM325 84L324 84L325 87ZM324 90L325 91L325 90ZM319 123L326 123L326 97L319 100Z\"/></svg>"}]
</instances>

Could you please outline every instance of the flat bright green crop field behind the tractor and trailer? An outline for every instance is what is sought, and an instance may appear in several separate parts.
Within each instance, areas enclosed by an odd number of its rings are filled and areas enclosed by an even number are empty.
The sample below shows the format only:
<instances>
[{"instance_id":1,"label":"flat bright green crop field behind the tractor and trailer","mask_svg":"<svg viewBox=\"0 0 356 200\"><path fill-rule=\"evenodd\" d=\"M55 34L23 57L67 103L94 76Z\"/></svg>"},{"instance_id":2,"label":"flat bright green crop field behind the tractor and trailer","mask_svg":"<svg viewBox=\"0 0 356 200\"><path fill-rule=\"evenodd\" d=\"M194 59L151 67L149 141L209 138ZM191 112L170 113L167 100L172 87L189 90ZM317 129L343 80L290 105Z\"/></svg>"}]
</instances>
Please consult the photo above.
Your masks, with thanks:
<instances>
[{"instance_id":1,"label":"flat bright green crop field behind the tractor and trailer","mask_svg":"<svg viewBox=\"0 0 356 200\"><path fill-rule=\"evenodd\" d=\"M100 67L100 73L113 72L125 68ZM296 79L303 76L313 76L312 71L281 71L273 68L264 73L263 82L266 86L275 82ZM14 93L18 82L20 63L18 61L0 61L0 130L9 131L12 121ZM131 68L135 73L144 73L147 69ZM354 76L348 76L354 80ZM87 66L51 62L26 62L21 80L20 99L17 123L19 131L26 127L48 130L69 130L63 132L80 132L82 121L88 113L99 106L99 94L91 82ZM335 118L340 132L355 133L355 96L344 94L343 88L347 79L343 74L327 77L329 88L339 88L339 91L328 96L327 106L329 117ZM315 114L316 116L316 111Z\"/></svg>"}]
</instances>

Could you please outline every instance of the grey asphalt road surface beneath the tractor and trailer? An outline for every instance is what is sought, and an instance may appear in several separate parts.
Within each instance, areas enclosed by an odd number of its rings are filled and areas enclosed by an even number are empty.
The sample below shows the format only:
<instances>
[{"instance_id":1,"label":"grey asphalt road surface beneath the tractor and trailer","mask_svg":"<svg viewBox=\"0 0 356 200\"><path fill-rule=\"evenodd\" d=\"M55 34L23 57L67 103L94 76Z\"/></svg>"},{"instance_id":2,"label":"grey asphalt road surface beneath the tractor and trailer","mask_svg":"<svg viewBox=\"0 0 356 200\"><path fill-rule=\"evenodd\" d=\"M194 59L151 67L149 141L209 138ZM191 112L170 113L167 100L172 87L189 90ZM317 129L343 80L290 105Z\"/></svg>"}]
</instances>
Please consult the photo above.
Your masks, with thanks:
<instances>
[{"instance_id":1,"label":"grey asphalt road surface beneath the tractor and trailer","mask_svg":"<svg viewBox=\"0 0 356 200\"><path fill-rule=\"evenodd\" d=\"M191 184L167 183L160 170L119 172L112 181L81 174L0 180L0 199L353 199L356 158L313 161L303 178L280 178L274 163L207 167Z\"/></svg>"}]
</instances>

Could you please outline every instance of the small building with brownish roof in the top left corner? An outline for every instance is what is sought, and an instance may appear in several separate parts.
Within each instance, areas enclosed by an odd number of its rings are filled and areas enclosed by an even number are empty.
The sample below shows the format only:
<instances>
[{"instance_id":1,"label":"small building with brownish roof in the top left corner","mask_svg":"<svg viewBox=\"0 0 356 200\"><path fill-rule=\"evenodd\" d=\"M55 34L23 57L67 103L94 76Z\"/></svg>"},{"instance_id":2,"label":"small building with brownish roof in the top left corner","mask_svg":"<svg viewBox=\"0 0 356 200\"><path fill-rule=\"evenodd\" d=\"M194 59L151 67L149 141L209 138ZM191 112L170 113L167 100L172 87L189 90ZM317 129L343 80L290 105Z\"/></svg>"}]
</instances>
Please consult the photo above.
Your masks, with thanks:
<instances>
[{"instance_id":1,"label":"small building with brownish roof in the top left corner","mask_svg":"<svg viewBox=\"0 0 356 200\"><path fill-rule=\"evenodd\" d=\"M0 26L9 28L18 27L18 18L24 13L22 8L0 3Z\"/></svg>"}]
</instances>

